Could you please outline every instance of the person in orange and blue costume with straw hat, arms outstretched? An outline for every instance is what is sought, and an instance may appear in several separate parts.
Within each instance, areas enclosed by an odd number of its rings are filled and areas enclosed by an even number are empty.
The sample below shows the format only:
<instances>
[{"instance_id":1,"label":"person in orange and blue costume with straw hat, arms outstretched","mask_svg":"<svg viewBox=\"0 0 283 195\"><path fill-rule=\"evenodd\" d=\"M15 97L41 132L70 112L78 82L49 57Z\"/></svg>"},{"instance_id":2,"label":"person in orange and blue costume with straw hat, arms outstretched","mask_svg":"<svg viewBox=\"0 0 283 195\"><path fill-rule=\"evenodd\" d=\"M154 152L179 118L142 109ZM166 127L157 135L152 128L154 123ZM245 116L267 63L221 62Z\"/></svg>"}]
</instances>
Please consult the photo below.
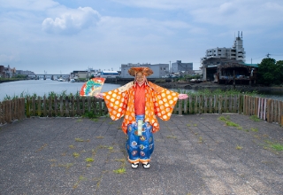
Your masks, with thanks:
<instances>
[{"instance_id":1,"label":"person in orange and blue costume with straw hat, arms outstretched","mask_svg":"<svg viewBox=\"0 0 283 195\"><path fill-rule=\"evenodd\" d=\"M168 121L178 99L187 98L164 89L146 76L153 74L149 67L131 67L129 74L134 81L116 90L100 93L96 98L103 98L111 119L119 120L124 116L122 130L126 134L126 151L132 168L149 168L150 156L154 150L153 134L159 130L157 117Z\"/></svg>"}]
</instances>

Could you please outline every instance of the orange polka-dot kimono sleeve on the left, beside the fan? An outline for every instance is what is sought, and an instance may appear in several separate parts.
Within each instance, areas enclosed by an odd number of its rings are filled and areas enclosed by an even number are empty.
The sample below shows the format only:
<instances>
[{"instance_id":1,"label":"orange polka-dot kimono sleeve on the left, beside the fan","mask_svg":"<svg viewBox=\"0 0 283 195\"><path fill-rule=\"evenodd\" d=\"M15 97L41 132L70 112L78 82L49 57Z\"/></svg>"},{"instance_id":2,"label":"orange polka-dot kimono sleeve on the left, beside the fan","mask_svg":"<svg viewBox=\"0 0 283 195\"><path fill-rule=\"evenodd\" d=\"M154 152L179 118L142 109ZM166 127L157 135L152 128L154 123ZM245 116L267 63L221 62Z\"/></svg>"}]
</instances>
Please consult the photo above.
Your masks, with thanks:
<instances>
[{"instance_id":1,"label":"orange polka-dot kimono sleeve on the left, beside the fan","mask_svg":"<svg viewBox=\"0 0 283 195\"><path fill-rule=\"evenodd\" d=\"M119 92L119 90L111 90L103 93L105 105L108 108L108 112L112 120L117 121L124 116L128 100L127 93L127 90L124 92Z\"/></svg>"}]
</instances>

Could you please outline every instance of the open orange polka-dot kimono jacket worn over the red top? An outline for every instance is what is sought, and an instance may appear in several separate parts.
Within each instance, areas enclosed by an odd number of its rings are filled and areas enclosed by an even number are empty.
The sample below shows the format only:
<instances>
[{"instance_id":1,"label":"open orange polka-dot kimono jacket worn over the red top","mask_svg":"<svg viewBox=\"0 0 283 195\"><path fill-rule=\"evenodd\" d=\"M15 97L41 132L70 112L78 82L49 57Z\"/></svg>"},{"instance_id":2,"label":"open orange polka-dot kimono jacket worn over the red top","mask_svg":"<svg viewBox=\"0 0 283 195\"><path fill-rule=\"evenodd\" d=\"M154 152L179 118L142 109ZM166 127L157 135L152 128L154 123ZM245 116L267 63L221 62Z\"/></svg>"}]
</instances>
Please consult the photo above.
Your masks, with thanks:
<instances>
[{"instance_id":1,"label":"open orange polka-dot kimono jacket worn over the red top","mask_svg":"<svg viewBox=\"0 0 283 195\"><path fill-rule=\"evenodd\" d=\"M119 120L124 116L122 130L126 134L127 126L135 122L134 112L134 82L116 90L103 93L105 104L111 119ZM179 93L164 89L152 82L145 82L145 116L144 121L152 126L152 132L159 130L157 116L168 121L172 115L174 105L178 101Z\"/></svg>"}]
</instances>

